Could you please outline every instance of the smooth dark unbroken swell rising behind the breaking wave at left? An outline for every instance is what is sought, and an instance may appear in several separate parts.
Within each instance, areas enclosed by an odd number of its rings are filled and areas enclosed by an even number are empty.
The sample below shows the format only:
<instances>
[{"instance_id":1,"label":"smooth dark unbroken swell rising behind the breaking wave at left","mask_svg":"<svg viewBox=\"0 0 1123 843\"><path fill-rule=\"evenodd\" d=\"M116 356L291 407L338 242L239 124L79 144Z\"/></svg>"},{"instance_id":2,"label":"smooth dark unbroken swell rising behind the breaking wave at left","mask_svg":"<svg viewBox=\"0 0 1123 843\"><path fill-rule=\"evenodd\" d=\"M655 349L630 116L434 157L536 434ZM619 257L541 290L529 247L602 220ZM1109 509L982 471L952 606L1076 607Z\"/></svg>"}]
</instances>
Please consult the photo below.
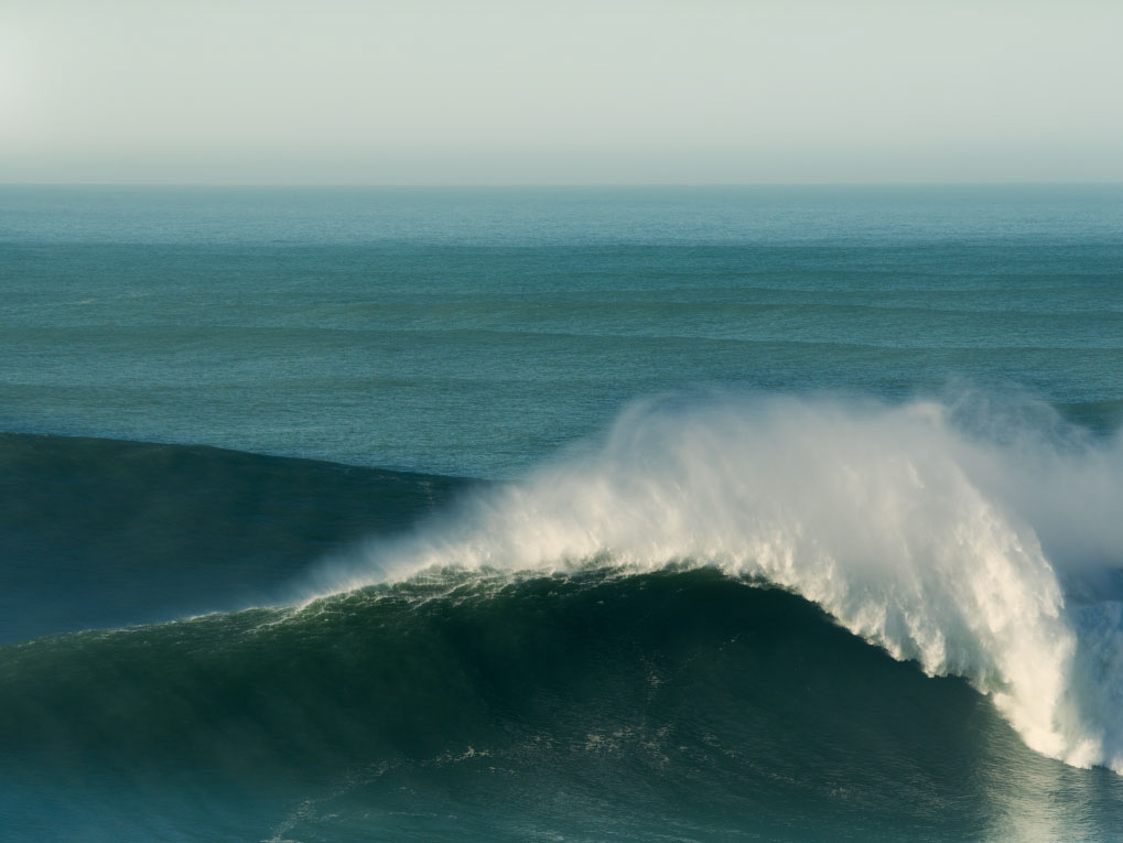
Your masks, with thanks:
<instances>
[{"instance_id":1,"label":"smooth dark unbroken swell rising behind the breaking wave at left","mask_svg":"<svg viewBox=\"0 0 1123 843\"><path fill-rule=\"evenodd\" d=\"M0 642L261 605L465 482L220 448L0 433Z\"/></svg>"}]
</instances>

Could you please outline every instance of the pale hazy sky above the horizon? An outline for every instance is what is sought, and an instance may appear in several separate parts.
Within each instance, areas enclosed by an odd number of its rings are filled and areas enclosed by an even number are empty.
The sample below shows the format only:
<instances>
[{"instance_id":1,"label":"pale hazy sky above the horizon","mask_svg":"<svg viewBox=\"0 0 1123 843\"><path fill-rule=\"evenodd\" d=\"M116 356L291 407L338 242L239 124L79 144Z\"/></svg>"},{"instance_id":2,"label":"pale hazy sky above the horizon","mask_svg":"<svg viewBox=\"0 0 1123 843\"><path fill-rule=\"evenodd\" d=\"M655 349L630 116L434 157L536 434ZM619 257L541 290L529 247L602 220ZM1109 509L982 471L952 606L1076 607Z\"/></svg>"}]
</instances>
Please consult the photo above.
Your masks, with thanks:
<instances>
[{"instance_id":1,"label":"pale hazy sky above the horizon","mask_svg":"<svg viewBox=\"0 0 1123 843\"><path fill-rule=\"evenodd\" d=\"M0 0L0 182L1123 181L1123 0Z\"/></svg>"}]
</instances>

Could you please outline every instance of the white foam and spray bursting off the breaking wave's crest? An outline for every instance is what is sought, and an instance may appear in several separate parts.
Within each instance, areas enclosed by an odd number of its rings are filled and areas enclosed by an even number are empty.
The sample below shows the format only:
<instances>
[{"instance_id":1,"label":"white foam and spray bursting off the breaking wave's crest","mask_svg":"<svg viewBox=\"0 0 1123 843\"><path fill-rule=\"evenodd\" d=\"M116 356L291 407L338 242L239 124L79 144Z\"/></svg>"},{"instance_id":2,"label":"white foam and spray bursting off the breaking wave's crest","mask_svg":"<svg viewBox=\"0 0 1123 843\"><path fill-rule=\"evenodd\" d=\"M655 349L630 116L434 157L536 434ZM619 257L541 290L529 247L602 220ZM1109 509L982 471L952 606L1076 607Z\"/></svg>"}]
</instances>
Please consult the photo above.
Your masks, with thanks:
<instances>
[{"instance_id":1,"label":"white foam and spray bursting off the breaking wave's crest","mask_svg":"<svg viewBox=\"0 0 1123 843\"><path fill-rule=\"evenodd\" d=\"M1033 749L1123 772L1123 439L1020 406L650 402L335 587L430 566L712 565L966 677Z\"/></svg>"}]
</instances>

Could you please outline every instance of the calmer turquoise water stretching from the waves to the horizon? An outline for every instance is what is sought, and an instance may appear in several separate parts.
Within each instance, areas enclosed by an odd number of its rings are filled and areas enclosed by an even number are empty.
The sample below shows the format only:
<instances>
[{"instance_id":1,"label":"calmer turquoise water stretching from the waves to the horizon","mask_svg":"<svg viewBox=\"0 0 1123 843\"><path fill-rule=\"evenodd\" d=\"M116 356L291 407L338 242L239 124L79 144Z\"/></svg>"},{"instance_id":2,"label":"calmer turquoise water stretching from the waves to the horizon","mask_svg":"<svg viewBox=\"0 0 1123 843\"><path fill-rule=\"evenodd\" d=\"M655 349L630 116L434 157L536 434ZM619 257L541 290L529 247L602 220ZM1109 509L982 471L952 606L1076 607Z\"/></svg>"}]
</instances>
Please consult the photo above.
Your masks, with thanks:
<instances>
[{"instance_id":1,"label":"calmer turquoise water stretching from the waves to the horizon","mask_svg":"<svg viewBox=\"0 0 1123 843\"><path fill-rule=\"evenodd\" d=\"M1121 205L7 187L0 428L511 477L668 391L1081 409L1119 400Z\"/></svg>"}]
</instances>

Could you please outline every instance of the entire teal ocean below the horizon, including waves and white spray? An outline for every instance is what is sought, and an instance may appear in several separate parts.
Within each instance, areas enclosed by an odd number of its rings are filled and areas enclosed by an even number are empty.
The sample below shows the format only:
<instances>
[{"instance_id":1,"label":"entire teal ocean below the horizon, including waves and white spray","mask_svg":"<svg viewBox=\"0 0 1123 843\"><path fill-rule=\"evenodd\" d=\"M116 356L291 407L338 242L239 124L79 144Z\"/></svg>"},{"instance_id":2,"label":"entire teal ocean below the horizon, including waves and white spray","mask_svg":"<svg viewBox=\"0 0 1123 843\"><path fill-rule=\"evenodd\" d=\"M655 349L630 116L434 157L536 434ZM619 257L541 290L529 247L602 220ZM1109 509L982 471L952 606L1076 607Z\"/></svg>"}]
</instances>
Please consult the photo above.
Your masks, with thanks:
<instances>
[{"instance_id":1,"label":"entire teal ocean below the horizon, including waves and white spray","mask_svg":"<svg viewBox=\"0 0 1123 843\"><path fill-rule=\"evenodd\" d=\"M0 840L1111 841L1123 187L0 186Z\"/></svg>"}]
</instances>

